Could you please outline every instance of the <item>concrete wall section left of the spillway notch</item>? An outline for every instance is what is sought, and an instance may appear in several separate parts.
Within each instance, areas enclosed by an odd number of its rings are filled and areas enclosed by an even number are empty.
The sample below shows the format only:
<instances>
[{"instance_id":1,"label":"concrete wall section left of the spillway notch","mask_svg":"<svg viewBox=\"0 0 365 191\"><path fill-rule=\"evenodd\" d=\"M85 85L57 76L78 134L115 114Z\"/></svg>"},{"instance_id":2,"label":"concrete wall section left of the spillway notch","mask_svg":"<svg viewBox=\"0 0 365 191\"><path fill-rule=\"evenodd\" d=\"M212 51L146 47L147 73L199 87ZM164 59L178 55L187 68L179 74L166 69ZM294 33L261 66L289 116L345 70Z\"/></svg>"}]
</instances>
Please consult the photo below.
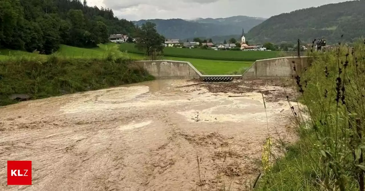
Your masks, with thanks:
<instances>
[{"instance_id":1,"label":"concrete wall section left of the spillway notch","mask_svg":"<svg viewBox=\"0 0 365 191\"><path fill-rule=\"evenodd\" d=\"M142 60L134 64L145 68L156 79L193 79L202 76L191 63L185 61Z\"/></svg>"}]
</instances>

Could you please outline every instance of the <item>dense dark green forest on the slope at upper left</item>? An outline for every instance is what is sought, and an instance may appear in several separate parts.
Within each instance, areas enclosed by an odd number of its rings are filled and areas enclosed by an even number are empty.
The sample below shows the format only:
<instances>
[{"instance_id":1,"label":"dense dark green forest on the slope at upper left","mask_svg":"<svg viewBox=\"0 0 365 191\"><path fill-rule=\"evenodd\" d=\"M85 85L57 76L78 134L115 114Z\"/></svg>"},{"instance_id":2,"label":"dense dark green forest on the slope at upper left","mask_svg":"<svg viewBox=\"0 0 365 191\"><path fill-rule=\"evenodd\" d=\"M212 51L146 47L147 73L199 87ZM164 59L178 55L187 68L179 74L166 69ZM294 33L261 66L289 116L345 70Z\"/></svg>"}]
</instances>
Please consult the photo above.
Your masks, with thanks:
<instances>
[{"instance_id":1,"label":"dense dark green forest on the slope at upper left","mask_svg":"<svg viewBox=\"0 0 365 191\"><path fill-rule=\"evenodd\" d=\"M50 54L59 44L96 47L111 33L135 31L132 22L86 0L0 0L0 48Z\"/></svg>"}]
</instances>

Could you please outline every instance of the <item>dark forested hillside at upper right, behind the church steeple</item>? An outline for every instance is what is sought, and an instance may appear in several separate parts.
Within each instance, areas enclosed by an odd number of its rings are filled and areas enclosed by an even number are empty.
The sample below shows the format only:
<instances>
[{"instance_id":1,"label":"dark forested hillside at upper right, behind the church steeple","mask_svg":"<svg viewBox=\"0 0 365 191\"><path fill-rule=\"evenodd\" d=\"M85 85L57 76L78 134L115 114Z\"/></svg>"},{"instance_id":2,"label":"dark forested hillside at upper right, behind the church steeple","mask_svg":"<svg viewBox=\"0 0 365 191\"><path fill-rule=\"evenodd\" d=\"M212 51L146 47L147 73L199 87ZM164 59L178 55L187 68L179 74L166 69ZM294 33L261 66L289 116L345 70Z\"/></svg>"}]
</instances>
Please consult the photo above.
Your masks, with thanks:
<instances>
[{"instance_id":1,"label":"dark forested hillside at upper right, behind the church steeple","mask_svg":"<svg viewBox=\"0 0 365 191\"><path fill-rule=\"evenodd\" d=\"M247 33L255 43L311 42L324 37L329 43L354 41L365 36L365 0L346 1L320 7L300 9L270 17Z\"/></svg>"}]
</instances>

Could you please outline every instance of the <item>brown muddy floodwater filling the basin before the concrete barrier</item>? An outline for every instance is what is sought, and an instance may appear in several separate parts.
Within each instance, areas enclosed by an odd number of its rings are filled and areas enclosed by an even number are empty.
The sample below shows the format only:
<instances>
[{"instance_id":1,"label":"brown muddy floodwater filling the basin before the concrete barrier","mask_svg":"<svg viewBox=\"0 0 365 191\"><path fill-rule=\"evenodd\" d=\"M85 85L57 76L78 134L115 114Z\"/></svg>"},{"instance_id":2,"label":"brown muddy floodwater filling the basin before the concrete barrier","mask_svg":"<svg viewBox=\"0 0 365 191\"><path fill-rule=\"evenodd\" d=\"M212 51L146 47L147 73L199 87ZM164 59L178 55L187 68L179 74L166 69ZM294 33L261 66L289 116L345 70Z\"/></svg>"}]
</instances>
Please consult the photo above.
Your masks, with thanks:
<instances>
[{"instance_id":1,"label":"brown muddy floodwater filling the basin before the concrete barrier","mask_svg":"<svg viewBox=\"0 0 365 191\"><path fill-rule=\"evenodd\" d=\"M266 93L265 112L261 93L227 84L155 80L2 107L0 190L247 190L291 109ZM7 160L32 161L31 186L7 186Z\"/></svg>"}]
</instances>

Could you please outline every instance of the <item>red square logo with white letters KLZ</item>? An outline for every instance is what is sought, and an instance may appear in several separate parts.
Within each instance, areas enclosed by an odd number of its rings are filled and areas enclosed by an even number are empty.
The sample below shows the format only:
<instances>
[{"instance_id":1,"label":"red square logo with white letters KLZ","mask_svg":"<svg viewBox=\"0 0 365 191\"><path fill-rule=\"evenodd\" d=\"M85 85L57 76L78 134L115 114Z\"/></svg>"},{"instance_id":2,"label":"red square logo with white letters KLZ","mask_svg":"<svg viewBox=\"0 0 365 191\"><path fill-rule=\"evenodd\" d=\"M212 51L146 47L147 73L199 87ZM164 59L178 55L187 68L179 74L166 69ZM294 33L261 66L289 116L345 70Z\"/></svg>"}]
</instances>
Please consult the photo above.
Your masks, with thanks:
<instances>
[{"instance_id":1,"label":"red square logo with white letters KLZ","mask_svg":"<svg viewBox=\"0 0 365 191\"><path fill-rule=\"evenodd\" d=\"M31 160L8 160L8 185L32 185Z\"/></svg>"}]
</instances>

